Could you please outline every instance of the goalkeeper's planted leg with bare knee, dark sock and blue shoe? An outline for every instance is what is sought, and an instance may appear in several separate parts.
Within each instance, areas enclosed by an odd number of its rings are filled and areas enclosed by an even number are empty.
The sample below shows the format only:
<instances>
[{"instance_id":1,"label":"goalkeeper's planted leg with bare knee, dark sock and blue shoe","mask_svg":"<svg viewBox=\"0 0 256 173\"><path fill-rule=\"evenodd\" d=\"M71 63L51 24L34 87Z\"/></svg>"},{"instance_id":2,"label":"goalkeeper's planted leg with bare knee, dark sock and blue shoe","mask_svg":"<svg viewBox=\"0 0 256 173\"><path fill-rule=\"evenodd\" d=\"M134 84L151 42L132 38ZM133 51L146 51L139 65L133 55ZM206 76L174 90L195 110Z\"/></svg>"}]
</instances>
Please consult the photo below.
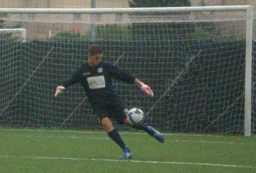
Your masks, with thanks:
<instances>
[{"instance_id":1,"label":"goalkeeper's planted leg with bare knee, dark sock and blue shoe","mask_svg":"<svg viewBox=\"0 0 256 173\"><path fill-rule=\"evenodd\" d=\"M108 136L117 143L120 148L123 149L123 154L121 155L121 159L129 159L132 158L132 153L129 148L126 147L124 141L119 135L118 131L114 128L111 120L108 117L103 117L101 119L101 124L105 128L105 131L108 133Z\"/></svg>"}]
</instances>

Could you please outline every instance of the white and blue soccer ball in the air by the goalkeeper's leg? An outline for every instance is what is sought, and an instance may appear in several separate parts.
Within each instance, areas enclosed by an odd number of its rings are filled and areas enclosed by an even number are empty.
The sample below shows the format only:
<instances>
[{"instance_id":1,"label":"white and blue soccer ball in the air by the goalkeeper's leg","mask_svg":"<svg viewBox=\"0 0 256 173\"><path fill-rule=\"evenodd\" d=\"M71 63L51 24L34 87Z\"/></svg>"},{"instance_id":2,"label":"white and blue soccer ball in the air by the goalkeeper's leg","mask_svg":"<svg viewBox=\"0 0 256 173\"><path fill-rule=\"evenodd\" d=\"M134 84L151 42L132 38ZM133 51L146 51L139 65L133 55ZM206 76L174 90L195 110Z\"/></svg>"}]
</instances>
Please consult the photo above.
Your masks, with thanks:
<instances>
[{"instance_id":1,"label":"white and blue soccer ball in the air by the goalkeeper's leg","mask_svg":"<svg viewBox=\"0 0 256 173\"><path fill-rule=\"evenodd\" d=\"M127 113L127 119L131 125L140 125L143 123L144 113L139 108L132 108Z\"/></svg>"}]
</instances>

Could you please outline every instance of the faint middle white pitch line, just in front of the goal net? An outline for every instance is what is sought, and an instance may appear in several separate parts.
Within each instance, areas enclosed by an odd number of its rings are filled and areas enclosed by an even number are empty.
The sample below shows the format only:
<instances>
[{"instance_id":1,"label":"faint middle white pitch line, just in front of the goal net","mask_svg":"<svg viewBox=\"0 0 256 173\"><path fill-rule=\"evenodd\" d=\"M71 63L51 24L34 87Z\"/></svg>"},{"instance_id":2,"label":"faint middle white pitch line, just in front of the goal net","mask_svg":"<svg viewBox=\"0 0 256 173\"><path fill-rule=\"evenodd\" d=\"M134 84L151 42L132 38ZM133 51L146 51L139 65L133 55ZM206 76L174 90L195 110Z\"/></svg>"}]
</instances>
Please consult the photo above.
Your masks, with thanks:
<instances>
[{"instance_id":1,"label":"faint middle white pitch line, just in front of the goal net","mask_svg":"<svg viewBox=\"0 0 256 173\"><path fill-rule=\"evenodd\" d=\"M79 137L79 136L33 136L33 135L8 135L7 137L41 137L41 138L55 138L55 139L91 139L91 140L110 140L109 137ZM125 139L125 137L124 137ZM155 139L152 139L152 141ZM142 139L129 139L129 141L145 141ZM189 140L165 140L166 142L186 142L186 143L209 143L209 144L247 144L243 142L222 142L222 141L189 141Z\"/></svg>"}]
</instances>

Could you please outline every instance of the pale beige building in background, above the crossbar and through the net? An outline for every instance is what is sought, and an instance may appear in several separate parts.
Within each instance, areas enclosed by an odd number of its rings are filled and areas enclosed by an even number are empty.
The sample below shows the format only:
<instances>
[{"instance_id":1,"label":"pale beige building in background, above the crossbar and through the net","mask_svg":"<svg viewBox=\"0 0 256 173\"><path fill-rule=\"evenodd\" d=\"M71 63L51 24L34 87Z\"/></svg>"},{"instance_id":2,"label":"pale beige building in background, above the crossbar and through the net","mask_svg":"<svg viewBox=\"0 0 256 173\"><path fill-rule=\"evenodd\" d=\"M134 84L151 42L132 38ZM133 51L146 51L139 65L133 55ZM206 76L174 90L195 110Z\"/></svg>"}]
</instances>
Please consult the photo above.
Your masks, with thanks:
<instances>
[{"instance_id":1,"label":"pale beige building in background, above the crossbar and through the net","mask_svg":"<svg viewBox=\"0 0 256 173\"><path fill-rule=\"evenodd\" d=\"M191 6L222 6L222 5L254 5L256 0L190 0ZM129 0L0 0L1 8L126 8ZM6 21L13 25L13 22ZM91 29L89 23L42 23L22 22L22 28L27 29L28 38L49 38L60 31L83 33ZM227 24L228 26L228 24ZM221 26L223 27L223 26ZM232 28L230 28L231 30ZM222 29L229 30L229 29ZM242 31L245 33L245 31ZM225 34L225 33L224 33Z\"/></svg>"}]
</instances>

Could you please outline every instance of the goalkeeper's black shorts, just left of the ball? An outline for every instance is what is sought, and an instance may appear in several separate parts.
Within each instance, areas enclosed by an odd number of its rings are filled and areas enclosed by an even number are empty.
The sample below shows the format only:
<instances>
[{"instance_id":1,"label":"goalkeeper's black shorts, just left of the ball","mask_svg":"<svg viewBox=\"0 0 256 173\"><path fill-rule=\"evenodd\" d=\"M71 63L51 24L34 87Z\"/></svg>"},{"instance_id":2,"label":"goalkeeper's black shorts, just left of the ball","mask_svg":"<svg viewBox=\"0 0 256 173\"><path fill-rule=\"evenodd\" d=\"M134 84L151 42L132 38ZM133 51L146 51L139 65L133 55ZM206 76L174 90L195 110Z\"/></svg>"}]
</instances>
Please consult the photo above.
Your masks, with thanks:
<instances>
[{"instance_id":1,"label":"goalkeeper's black shorts, just left of the ball","mask_svg":"<svg viewBox=\"0 0 256 173\"><path fill-rule=\"evenodd\" d=\"M118 124L123 124L127 117L127 109L125 110L124 104L121 100L111 100L104 104L94 105L93 109L100 122L103 118L109 117L110 119L114 119Z\"/></svg>"}]
</instances>

